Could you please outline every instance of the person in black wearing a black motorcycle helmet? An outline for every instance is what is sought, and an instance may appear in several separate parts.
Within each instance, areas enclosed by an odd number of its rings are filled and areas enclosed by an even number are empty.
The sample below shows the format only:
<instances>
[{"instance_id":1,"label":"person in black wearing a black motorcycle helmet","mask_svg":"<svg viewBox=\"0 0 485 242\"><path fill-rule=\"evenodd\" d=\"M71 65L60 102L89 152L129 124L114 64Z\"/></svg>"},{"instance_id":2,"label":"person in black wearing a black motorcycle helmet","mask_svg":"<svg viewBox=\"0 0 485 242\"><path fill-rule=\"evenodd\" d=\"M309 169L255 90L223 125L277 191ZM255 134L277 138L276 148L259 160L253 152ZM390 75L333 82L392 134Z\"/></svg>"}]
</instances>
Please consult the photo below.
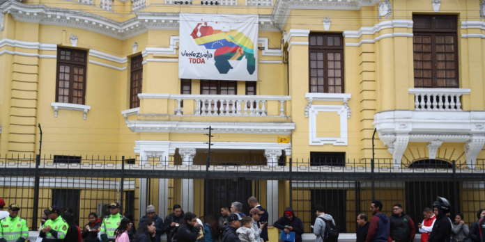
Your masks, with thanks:
<instances>
[{"instance_id":1,"label":"person in black wearing a black motorcycle helmet","mask_svg":"<svg viewBox=\"0 0 485 242\"><path fill-rule=\"evenodd\" d=\"M436 222L433 225L433 231L429 234L429 242L445 242L452 233L452 225L449 223L445 215L451 204L444 197L438 197L436 202L433 202L433 211L436 215Z\"/></svg>"}]
</instances>

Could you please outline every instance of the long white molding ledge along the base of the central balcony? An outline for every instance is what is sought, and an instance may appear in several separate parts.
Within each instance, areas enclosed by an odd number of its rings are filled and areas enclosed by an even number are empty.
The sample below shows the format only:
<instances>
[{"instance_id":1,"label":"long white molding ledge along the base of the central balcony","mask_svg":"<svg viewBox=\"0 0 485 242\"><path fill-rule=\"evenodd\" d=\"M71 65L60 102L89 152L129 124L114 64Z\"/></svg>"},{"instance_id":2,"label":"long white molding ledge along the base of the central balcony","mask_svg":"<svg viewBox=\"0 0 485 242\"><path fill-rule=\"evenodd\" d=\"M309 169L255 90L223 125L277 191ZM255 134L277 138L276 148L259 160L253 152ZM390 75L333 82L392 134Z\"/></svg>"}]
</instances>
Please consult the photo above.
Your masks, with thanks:
<instances>
[{"instance_id":1,"label":"long white molding ledge along the base of the central balcony","mask_svg":"<svg viewBox=\"0 0 485 242\"><path fill-rule=\"evenodd\" d=\"M345 108L344 108L345 109ZM137 133L206 133L211 125L214 134L291 134L295 123L277 122L182 122L182 121L126 121Z\"/></svg>"}]
</instances>

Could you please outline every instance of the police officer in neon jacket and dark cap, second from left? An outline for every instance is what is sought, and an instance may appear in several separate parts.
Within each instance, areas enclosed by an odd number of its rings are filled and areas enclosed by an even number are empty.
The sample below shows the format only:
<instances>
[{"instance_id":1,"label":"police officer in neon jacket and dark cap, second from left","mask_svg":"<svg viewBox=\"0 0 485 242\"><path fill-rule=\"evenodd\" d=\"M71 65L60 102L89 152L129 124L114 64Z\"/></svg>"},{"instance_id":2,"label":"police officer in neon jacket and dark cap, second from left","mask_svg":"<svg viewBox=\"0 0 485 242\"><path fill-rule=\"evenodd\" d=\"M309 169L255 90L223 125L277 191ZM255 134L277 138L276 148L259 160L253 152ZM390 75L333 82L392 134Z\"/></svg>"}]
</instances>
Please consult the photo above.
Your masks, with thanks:
<instances>
[{"instance_id":1,"label":"police officer in neon jacket and dark cap, second from left","mask_svg":"<svg viewBox=\"0 0 485 242\"><path fill-rule=\"evenodd\" d=\"M49 220L45 221L39 234L40 238L43 238L43 242L59 242L66 238L69 225L66 220L59 216L59 212L61 212L61 209L55 205L44 210Z\"/></svg>"}]
</instances>

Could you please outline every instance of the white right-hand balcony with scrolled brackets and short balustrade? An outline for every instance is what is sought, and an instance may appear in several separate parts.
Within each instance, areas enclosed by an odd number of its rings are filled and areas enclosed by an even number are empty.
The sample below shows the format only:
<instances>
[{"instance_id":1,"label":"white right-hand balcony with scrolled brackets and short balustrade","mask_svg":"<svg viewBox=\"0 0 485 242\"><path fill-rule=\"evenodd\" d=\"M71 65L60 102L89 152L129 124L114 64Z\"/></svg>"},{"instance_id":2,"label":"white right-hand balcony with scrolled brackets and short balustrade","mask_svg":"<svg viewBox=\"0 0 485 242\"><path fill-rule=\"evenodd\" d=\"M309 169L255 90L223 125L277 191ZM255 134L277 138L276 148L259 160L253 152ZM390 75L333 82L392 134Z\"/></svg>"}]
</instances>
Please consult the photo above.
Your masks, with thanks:
<instances>
[{"instance_id":1,"label":"white right-hand balcony with scrolled brackets and short balustrade","mask_svg":"<svg viewBox=\"0 0 485 242\"><path fill-rule=\"evenodd\" d=\"M414 111L391 110L374 115L379 138L392 154L394 166L409 142L426 142L429 159L436 159L442 143L465 143L466 163L475 161L485 143L485 111L463 111L461 97L470 89L410 88L415 95Z\"/></svg>"}]
</instances>

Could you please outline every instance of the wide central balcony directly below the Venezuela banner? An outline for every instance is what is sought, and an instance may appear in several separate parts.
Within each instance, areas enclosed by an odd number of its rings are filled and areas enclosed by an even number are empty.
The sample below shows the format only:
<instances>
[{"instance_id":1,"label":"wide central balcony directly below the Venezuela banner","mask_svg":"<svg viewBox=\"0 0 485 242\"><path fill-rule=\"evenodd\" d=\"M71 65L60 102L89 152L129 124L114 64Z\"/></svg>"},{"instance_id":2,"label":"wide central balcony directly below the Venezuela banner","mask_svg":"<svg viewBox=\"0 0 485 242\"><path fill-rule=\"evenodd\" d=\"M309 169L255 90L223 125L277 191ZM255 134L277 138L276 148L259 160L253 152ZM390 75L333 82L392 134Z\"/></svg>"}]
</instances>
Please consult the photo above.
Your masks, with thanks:
<instances>
[{"instance_id":1,"label":"wide central balcony directly below the Venezuela banner","mask_svg":"<svg viewBox=\"0 0 485 242\"><path fill-rule=\"evenodd\" d=\"M140 93L140 108L122 111L134 132L291 134L291 96ZM130 116L136 115L136 120Z\"/></svg>"}]
</instances>

